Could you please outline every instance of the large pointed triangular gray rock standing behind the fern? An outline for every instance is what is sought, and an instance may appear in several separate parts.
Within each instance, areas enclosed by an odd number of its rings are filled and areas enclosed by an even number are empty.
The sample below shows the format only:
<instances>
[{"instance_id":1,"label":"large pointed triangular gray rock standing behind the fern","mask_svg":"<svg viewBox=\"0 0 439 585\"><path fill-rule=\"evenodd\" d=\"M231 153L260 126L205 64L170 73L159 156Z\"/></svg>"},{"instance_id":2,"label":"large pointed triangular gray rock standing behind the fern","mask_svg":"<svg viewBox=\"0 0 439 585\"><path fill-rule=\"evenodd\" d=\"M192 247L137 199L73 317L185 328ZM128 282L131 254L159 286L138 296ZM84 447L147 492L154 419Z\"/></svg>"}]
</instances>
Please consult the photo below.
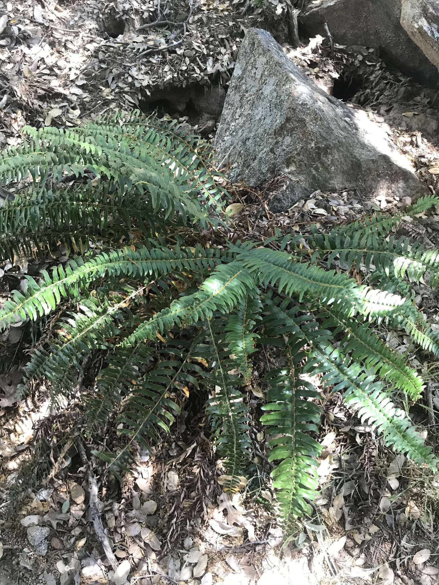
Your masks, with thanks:
<instances>
[{"instance_id":1,"label":"large pointed triangular gray rock standing behind the fern","mask_svg":"<svg viewBox=\"0 0 439 585\"><path fill-rule=\"evenodd\" d=\"M312 192L358 190L363 197L426 194L407 159L366 112L325 94L265 30L249 29L215 137L229 179L258 185L280 174L287 209Z\"/></svg>"}]
</instances>

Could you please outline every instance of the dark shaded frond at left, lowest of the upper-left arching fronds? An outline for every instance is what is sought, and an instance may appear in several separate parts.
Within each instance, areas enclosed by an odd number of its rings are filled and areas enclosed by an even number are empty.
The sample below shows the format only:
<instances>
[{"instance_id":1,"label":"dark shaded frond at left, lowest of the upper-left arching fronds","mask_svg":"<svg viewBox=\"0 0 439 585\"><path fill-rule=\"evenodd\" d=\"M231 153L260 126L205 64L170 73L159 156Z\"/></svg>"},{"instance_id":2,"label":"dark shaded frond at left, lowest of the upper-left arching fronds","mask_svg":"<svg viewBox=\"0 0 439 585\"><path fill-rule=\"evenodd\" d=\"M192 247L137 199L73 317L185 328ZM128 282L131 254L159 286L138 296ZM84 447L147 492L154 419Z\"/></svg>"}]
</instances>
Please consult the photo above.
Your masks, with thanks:
<instances>
[{"instance_id":1,"label":"dark shaded frond at left, lowest of the upper-left arching fronds","mask_svg":"<svg viewBox=\"0 0 439 585\"><path fill-rule=\"evenodd\" d=\"M110 181L96 187L89 182L56 191L33 190L0 208L0 261L32 257L60 243L82 253L89 249L90 238L128 239L132 228L145 237L164 232L162 219L139 192L121 192Z\"/></svg>"}]
</instances>

